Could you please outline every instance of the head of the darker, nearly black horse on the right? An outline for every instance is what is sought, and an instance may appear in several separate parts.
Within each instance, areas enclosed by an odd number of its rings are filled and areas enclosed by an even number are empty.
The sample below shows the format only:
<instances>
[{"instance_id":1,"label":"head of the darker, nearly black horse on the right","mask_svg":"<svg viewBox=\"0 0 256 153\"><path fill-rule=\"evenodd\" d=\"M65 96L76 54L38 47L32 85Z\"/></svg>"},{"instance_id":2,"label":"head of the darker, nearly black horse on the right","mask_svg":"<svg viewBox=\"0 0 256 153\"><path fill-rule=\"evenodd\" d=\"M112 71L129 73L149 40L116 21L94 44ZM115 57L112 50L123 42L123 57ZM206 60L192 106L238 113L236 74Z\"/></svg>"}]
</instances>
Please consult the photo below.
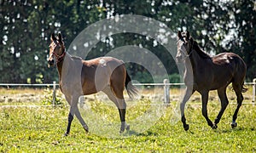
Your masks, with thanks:
<instances>
[{"instance_id":1,"label":"head of the darker, nearly black horse on the right","mask_svg":"<svg viewBox=\"0 0 256 153\"><path fill-rule=\"evenodd\" d=\"M193 38L190 37L189 31L177 32L177 55L176 60L178 63L183 62L189 57L193 45Z\"/></svg>"}]
</instances>

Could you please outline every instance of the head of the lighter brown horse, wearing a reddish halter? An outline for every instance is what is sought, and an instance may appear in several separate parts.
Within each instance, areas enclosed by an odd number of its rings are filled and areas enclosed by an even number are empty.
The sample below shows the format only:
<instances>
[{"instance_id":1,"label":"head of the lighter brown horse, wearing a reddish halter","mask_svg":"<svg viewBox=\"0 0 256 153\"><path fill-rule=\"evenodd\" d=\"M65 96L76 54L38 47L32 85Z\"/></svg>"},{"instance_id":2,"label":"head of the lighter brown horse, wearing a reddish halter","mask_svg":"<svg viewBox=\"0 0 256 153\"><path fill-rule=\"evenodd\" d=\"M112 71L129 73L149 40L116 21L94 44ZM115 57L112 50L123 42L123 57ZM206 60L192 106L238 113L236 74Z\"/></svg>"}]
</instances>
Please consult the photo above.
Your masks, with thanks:
<instances>
[{"instance_id":1,"label":"head of the lighter brown horse, wearing a reddish halter","mask_svg":"<svg viewBox=\"0 0 256 153\"><path fill-rule=\"evenodd\" d=\"M61 33L59 33L58 38L55 37L55 34L52 34L50 41L48 67L55 65L55 63L61 62L66 54Z\"/></svg>"}]
</instances>

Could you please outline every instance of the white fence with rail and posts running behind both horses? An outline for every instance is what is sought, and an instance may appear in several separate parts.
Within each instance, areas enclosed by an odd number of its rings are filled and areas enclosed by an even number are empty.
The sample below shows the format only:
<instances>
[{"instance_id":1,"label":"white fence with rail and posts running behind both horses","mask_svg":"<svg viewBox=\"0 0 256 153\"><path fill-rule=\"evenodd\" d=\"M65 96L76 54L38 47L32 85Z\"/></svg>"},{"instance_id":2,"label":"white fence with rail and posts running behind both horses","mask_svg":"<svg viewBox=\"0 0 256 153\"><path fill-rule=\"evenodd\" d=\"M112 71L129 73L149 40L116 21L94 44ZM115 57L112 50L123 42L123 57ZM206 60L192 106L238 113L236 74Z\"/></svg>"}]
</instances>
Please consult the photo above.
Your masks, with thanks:
<instances>
[{"instance_id":1,"label":"white fence with rail and posts running behind both horses","mask_svg":"<svg viewBox=\"0 0 256 153\"><path fill-rule=\"evenodd\" d=\"M256 78L253 79L253 82L245 82L246 85L252 85L253 86L253 96L252 96L252 102L255 102L255 93L256 93ZM170 103L170 86L184 86L184 83L170 83L167 79L165 79L162 83L133 83L135 86L163 86L164 87L164 93L165 93L165 104ZM59 84L56 84L56 82L50 83L44 83L44 84L24 84L24 83L0 83L0 87L53 87L53 105L55 105L55 89L56 86L59 86Z\"/></svg>"}]
</instances>

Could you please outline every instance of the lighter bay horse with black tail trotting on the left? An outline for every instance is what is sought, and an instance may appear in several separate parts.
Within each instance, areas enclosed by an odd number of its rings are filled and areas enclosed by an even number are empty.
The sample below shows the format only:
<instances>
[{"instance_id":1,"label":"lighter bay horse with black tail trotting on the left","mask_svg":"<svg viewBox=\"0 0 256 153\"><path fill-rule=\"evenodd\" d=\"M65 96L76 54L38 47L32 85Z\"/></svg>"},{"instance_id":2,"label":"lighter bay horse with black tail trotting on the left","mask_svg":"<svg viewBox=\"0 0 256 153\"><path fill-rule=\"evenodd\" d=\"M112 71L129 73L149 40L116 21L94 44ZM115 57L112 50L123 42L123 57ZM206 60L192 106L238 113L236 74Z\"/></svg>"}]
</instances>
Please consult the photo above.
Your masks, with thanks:
<instances>
[{"instance_id":1,"label":"lighter bay horse with black tail trotting on the left","mask_svg":"<svg viewBox=\"0 0 256 153\"><path fill-rule=\"evenodd\" d=\"M67 53L61 33L58 37L52 34L49 44L48 65L56 65L59 74L59 83L62 94L65 95L70 111L68 114L67 131L70 133L73 116L77 116L79 122L86 132L88 126L80 115L78 102L82 95L96 94L99 91L108 95L119 110L121 121L120 133L130 129L125 122L126 104L124 89L132 98L137 94L137 88L131 84L131 77L128 75L125 64L122 60L113 57L100 57L84 60Z\"/></svg>"}]
</instances>

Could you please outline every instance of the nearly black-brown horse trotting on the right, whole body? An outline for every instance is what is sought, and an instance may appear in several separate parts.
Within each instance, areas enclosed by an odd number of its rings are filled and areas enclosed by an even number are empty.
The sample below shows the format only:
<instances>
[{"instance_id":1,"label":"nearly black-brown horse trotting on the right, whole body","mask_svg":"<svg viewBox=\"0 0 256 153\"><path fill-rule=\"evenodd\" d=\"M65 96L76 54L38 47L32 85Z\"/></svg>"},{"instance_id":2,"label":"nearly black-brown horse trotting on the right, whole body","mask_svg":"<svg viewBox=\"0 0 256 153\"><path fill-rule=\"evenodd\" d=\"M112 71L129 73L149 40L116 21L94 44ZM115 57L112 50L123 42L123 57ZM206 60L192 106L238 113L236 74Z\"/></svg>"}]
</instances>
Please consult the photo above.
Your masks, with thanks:
<instances>
[{"instance_id":1,"label":"nearly black-brown horse trotting on the right, whole body","mask_svg":"<svg viewBox=\"0 0 256 153\"><path fill-rule=\"evenodd\" d=\"M241 57L234 53L222 53L213 57L206 54L192 37L189 31L177 32L177 63L184 62L184 83L186 85L183 100L180 103L181 121L184 130L189 129L184 115L184 107L190 96L195 92L201 94L202 115L213 129L216 129L229 100L226 95L226 88L232 82L236 93L237 107L233 115L231 127L237 126L237 113L241 107L243 96L241 93L247 91L244 87L247 66ZM214 123L207 116L207 102L210 90L217 90L221 101L221 109Z\"/></svg>"}]
</instances>

